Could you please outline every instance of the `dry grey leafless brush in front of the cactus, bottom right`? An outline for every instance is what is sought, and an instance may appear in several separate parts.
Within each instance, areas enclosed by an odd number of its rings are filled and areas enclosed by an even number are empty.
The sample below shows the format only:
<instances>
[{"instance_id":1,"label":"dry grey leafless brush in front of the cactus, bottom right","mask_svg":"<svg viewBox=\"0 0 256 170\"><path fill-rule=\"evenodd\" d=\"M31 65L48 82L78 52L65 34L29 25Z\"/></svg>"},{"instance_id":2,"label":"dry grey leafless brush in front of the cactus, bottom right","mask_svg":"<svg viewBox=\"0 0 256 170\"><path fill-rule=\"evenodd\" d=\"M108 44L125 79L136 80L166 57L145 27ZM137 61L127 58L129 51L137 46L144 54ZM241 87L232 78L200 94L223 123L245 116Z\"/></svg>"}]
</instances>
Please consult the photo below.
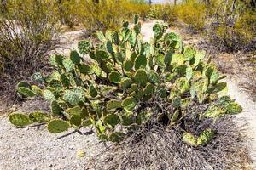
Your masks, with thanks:
<instances>
[{"instance_id":1,"label":"dry grey leafless brush in front of the cactus, bottom right","mask_svg":"<svg viewBox=\"0 0 256 170\"><path fill-rule=\"evenodd\" d=\"M203 122L208 126L209 122ZM242 169L249 158L233 117L221 119L211 126L218 130L211 144L191 147L183 144L181 129L152 124L142 128L119 145L96 156L96 169Z\"/></svg>"}]
</instances>

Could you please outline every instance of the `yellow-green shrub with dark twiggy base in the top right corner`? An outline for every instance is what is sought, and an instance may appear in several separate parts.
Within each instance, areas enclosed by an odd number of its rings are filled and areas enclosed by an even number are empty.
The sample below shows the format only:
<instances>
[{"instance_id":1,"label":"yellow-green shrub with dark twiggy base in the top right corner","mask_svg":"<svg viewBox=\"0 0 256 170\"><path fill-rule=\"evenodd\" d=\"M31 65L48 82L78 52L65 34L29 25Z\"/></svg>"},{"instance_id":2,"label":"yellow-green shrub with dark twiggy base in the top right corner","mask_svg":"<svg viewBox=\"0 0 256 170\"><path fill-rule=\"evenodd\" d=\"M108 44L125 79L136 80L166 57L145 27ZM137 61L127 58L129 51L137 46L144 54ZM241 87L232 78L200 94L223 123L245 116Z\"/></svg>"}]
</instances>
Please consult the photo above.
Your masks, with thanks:
<instances>
[{"instance_id":1,"label":"yellow-green shrub with dark twiggy base in the top right corner","mask_svg":"<svg viewBox=\"0 0 256 170\"><path fill-rule=\"evenodd\" d=\"M253 47L255 10L241 1L220 1L207 29L210 42L222 50L241 50Z\"/></svg>"}]
</instances>

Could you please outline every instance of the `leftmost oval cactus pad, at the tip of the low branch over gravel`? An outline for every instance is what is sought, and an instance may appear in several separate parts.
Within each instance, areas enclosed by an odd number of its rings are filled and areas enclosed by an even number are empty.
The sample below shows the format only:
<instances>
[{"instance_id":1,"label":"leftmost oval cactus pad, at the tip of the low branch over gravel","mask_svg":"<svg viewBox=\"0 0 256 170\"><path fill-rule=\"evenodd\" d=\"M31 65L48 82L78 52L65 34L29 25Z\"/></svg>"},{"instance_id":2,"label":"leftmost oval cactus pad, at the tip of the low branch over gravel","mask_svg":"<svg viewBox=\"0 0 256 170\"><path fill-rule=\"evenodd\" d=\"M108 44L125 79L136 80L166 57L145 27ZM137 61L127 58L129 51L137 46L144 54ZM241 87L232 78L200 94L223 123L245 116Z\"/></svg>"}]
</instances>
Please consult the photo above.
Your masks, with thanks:
<instances>
[{"instance_id":1,"label":"leftmost oval cactus pad, at the tip of the low branch over gravel","mask_svg":"<svg viewBox=\"0 0 256 170\"><path fill-rule=\"evenodd\" d=\"M9 122L14 124L16 127L25 127L27 125L32 124L32 121L28 116L21 114L19 112L14 112L9 115Z\"/></svg>"}]
</instances>

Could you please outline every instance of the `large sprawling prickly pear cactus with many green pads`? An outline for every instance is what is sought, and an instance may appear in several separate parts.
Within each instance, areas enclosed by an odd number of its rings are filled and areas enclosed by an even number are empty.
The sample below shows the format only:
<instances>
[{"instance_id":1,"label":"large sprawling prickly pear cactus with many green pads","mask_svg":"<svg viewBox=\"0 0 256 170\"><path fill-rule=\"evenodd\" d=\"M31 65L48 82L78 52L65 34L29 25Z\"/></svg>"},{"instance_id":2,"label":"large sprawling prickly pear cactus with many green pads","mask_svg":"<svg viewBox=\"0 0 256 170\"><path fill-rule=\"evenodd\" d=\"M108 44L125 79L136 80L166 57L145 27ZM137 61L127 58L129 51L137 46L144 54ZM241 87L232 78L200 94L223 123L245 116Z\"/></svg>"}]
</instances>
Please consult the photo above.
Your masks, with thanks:
<instances>
[{"instance_id":1,"label":"large sprawling prickly pear cactus with many green pads","mask_svg":"<svg viewBox=\"0 0 256 170\"><path fill-rule=\"evenodd\" d=\"M26 82L17 85L23 97L49 100L51 113L46 117L14 113L10 122L15 126L48 122L51 133L93 126L100 139L118 142L155 114L164 117L168 126L178 126L191 105L207 105L196 113L198 121L241 112L241 106L224 95L224 76L210 59L205 61L205 52L184 47L182 38L166 28L165 23L156 23L151 42L143 42L136 15L132 27L125 20L120 31L97 31L99 43L84 40L69 57L52 55L49 63L55 71L46 77L32 76L45 88ZM93 60L90 64L84 62L87 54ZM169 109L156 113L155 99L165 100ZM213 135L212 129L204 129L198 137L184 132L183 141L198 146Z\"/></svg>"}]
</instances>

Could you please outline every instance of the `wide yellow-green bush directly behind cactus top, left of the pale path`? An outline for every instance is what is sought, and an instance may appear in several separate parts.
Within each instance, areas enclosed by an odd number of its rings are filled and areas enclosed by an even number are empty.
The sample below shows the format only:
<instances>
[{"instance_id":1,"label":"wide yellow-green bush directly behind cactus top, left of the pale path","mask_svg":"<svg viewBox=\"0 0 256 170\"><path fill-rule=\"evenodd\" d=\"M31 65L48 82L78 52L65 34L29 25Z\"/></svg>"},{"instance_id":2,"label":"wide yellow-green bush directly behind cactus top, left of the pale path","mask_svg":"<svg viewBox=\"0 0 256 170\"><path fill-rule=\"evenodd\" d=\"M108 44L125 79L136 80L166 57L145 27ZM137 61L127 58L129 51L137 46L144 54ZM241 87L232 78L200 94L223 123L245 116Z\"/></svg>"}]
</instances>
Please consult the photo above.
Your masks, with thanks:
<instances>
[{"instance_id":1,"label":"wide yellow-green bush directly behind cactus top, left of the pale path","mask_svg":"<svg viewBox=\"0 0 256 170\"><path fill-rule=\"evenodd\" d=\"M85 28L93 31L116 30L122 20L131 19L134 14L146 17L149 8L147 3L130 0L102 0L99 3L86 0L80 2L79 20Z\"/></svg>"}]
</instances>

